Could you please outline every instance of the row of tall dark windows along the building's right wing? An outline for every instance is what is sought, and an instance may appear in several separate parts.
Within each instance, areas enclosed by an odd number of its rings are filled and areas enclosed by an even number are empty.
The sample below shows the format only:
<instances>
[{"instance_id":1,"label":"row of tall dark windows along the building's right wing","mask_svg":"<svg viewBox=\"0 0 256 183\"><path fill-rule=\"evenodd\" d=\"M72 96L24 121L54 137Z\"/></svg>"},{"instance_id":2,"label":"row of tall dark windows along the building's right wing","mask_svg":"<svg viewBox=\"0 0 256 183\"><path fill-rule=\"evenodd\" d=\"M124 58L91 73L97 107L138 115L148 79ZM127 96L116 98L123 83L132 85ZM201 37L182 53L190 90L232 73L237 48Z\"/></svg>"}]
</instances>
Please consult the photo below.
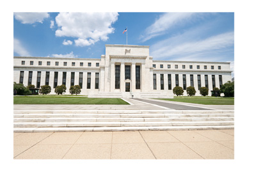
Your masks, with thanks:
<instances>
[{"instance_id":1,"label":"row of tall dark windows along the building's right wing","mask_svg":"<svg viewBox=\"0 0 256 183\"><path fill-rule=\"evenodd\" d=\"M190 74L190 86L194 87L194 75ZM172 90L172 74L168 74L168 90ZM208 75L204 76L205 79L205 87L209 88L209 83L208 83ZM187 80L186 80L186 74L182 74L182 86L183 90L187 89ZM198 83L198 90L200 90L201 86L201 75L197 75L197 83ZM220 83L220 88L222 86L222 76L219 75L219 83ZM175 74L175 86L179 86L179 74ZM212 75L212 88L216 87L215 83L215 75ZM160 88L161 90L164 90L164 74L160 74ZM153 89L157 90L157 79L156 79L156 74L153 74Z\"/></svg>"}]
</instances>

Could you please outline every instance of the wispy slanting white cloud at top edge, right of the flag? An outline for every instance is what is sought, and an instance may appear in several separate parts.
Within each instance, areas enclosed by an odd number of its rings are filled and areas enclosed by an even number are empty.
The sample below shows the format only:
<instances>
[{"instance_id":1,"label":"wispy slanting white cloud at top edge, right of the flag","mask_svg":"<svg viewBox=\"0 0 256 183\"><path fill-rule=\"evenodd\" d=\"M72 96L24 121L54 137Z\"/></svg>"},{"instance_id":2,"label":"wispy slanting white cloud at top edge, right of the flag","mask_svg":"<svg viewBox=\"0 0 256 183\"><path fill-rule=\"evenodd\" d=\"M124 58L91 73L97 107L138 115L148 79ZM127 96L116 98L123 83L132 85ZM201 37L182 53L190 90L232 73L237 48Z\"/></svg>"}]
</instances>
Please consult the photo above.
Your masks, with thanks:
<instances>
[{"instance_id":1,"label":"wispy slanting white cloud at top edge, right of the flag","mask_svg":"<svg viewBox=\"0 0 256 183\"><path fill-rule=\"evenodd\" d=\"M164 13L145 30L145 35L141 36L141 39L145 42L155 36L162 35L166 31L170 31L172 26L185 24L186 20L190 20L195 15L198 15L198 13Z\"/></svg>"}]
</instances>

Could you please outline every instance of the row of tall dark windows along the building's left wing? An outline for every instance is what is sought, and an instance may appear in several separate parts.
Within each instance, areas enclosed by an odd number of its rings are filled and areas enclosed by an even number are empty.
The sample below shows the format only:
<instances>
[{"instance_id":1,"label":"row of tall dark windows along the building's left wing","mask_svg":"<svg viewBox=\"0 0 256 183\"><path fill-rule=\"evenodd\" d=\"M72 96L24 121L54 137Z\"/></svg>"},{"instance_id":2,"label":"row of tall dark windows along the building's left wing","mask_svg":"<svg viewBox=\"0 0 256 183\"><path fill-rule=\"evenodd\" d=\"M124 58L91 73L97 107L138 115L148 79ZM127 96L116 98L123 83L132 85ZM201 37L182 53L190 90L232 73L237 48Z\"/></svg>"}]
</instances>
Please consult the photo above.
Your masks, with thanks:
<instances>
[{"instance_id":1,"label":"row of tall dark windows along the building's left wing","mask_svg":"<svg viewBox=\"0 0 256 183\"><path fill-rule=\"evenodd\" d=\"M56 86L61 85L61 83L58 83L58 73L54 72L54 80L53 80L53 88L56 88ZM87 89L91 89L91 72L87 72ZM28 74L28 85L32 83L32 77L33 72L29 71ZM50 81L50 72L45 72L45 85L49 85ZM67 72L62 72L62 84L66 85L67 81ZM24 71L20 71L20 81L19 83L23 84L24 82ZM41 71L37 72L36 77L36 88L40 88L41 84ZM70 76L70 86L74 86L75 84L75 72L71 72ZM83 88L83 72L79 72L79 86ZM99 72L95 72L95 89L99 89Z\"/></svg>"}]
</instances>

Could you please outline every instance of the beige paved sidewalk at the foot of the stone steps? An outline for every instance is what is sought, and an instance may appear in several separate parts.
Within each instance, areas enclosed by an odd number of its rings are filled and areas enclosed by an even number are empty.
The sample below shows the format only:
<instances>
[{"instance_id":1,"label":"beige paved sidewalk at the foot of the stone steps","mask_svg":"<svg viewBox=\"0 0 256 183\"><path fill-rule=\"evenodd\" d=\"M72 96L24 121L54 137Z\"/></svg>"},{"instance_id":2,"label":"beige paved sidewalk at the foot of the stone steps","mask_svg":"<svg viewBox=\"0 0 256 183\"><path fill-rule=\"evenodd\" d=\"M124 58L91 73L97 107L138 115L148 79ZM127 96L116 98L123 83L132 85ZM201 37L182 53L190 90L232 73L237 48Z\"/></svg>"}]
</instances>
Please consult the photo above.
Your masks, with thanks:
<instances>
[{"instance_id":1,"label":"beige paved sidewalk at the foot of the stone steps","mask_svg":"<svg viewBox=\"0 0 256 183\"><path fill-rule=\"evenodd\" d=\"M14 159L234 159L234 130L13 133Z\"/></svg>"}]
</instances>

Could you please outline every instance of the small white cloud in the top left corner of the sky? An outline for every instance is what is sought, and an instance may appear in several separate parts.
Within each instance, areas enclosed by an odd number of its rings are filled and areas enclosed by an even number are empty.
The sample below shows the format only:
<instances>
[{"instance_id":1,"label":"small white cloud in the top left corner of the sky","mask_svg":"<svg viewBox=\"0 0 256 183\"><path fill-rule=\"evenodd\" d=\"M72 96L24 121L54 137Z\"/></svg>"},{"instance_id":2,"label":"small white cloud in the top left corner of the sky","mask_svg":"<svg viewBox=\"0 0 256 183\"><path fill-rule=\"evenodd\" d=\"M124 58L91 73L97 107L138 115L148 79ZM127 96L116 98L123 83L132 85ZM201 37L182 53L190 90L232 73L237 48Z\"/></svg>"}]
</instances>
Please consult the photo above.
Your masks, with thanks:
<instances>
[{"instance_id":1,"label":"small white cloud in the top left corner of the sky","mask_svg":"<svg viewBox=\"0 0 256 183\"><path fill-rule=\"evenodd\" d=\"M33 24L35 22L43 23L43 20L48 18L48 13L13 13L16 20L22 24Z\"/></svg>"}]
</instances>

